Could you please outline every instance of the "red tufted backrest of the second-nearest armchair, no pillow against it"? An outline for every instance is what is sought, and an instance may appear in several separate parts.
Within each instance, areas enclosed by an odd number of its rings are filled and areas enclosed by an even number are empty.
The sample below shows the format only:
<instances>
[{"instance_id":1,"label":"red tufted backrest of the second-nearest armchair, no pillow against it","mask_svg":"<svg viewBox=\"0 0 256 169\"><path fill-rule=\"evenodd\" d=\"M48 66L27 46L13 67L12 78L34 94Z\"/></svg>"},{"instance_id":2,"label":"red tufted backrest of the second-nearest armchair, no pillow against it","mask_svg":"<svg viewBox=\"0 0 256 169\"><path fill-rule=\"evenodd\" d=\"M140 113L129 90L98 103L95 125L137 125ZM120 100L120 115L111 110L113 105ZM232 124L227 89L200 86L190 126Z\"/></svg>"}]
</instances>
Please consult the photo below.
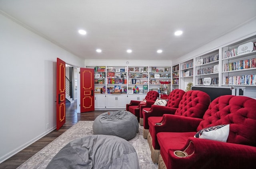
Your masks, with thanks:
<instances>
[{"instance_id":1,"label":"red tufted backrest of the second-nearest armchair, no pillow against it","mask_svg":"<svg viewBox=\"0 0 256 169\"><path fill-rule=\"evenodd\" d=\"M210 104L210 96L200 90L190 90L182 96L175 115L202 118Z\"/></svg>"}]
</instances>

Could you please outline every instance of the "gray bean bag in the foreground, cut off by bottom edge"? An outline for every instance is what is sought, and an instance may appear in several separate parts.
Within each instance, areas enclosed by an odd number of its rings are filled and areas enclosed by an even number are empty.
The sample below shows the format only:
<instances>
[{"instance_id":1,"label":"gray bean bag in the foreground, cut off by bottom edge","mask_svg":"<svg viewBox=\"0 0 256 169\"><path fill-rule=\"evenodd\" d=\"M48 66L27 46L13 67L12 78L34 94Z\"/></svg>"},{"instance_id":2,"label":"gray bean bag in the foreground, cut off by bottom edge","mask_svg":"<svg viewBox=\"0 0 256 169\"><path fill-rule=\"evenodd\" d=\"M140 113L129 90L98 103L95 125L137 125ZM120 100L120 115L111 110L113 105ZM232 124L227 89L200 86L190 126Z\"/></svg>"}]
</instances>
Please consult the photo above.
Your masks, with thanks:
<instances>
[{"instance_id":1,"label":"gray bean bag in the foreground, cut off by bottom edge","mask_svg":"<svg viewBox=\"0 0 256 169\"><path fill-rule=\"evenodd\" d=\"M139 169L136 150L116 136L91 135L71 141L46 169Z\"/></svg>"}]
</instances>

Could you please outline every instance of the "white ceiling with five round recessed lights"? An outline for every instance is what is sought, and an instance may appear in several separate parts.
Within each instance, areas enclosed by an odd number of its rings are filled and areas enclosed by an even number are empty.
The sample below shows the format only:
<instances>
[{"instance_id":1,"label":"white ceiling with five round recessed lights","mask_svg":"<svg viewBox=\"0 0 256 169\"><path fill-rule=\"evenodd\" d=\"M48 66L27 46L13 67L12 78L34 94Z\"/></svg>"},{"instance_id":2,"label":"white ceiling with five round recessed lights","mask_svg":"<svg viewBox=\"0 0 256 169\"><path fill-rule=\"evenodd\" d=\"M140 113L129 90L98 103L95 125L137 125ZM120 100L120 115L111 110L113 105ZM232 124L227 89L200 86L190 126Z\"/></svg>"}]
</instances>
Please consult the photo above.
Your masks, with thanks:
<instances>
[{"instance_id":1,"label":"white ceiling with five round recessed lights","mask_svg":"<svg viewBox=\"0 0 256 169\"><path fill-rule=\"evenodd\" d=\"M173 60L255 18L255 7L256 0L0 0L1 14L84 59Z\"/></svg>"}]
</instances>

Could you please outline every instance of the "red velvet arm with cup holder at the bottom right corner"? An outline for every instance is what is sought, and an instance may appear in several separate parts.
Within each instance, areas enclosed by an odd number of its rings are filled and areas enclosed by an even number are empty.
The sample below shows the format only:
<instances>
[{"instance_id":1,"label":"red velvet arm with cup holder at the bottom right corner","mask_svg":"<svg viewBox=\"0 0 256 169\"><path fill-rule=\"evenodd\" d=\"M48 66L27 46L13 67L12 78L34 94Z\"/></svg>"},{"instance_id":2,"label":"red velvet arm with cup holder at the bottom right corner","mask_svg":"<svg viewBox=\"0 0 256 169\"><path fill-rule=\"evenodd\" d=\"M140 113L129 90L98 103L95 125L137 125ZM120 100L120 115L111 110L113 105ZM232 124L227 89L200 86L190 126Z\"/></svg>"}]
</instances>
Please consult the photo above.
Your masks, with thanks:
<instances>
[{"instance_id":1,"label":"red velvet arm with cup holder at the bottom right corner","mask_svg":"<svg viewBox=\"0 0 256 169\"><path fill-rule=\"evenodd\" d=\"M184 158L176 157L174 155L174 151L176 150L169 149L169 162L166 167L170 169L232 169L255 167L256 147L253 146L200 138L188 138L184 147L178 150L184 151L185 149L189 156Z\"/></svg>"}]
</instances>

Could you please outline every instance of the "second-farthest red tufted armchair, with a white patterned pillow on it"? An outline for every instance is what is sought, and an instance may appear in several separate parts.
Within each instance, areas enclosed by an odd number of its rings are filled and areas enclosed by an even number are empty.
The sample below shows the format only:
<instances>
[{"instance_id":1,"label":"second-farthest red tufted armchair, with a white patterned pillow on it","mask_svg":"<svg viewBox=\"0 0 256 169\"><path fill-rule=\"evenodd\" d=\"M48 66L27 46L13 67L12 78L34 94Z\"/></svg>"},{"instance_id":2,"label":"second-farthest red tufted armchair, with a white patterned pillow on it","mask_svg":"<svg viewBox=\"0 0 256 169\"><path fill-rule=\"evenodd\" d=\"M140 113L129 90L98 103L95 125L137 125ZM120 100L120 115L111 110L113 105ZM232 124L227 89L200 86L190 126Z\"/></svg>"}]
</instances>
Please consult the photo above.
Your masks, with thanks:
<instances>
[{"instance_id":1,"label":"second-farthest red tufted armchair, with a white patterned pillow on it","mask_svg":"<svg viewBox=\"0 0 256 169\"><path fill-rule=\"evenodd\" d=\"M140 111L140 124L144 126L143 129L143 137L147 138L148 135L148 118L146 118L146 121L144 122L144 116L143 112L147 112L146 114L148 116L159 114L159 116L162 116L163 114L170 114L170 112L174 112L180 103L180 100L182 99L182 96L185 94L184 90L181 89L174 89L172 92L170 92L169 96L166 98L168 100L166 106L158 106L153 105L148 106L146 108L142 107ZM148 117L147 116L147 117Z\"/></svg>"}]
</instances>

